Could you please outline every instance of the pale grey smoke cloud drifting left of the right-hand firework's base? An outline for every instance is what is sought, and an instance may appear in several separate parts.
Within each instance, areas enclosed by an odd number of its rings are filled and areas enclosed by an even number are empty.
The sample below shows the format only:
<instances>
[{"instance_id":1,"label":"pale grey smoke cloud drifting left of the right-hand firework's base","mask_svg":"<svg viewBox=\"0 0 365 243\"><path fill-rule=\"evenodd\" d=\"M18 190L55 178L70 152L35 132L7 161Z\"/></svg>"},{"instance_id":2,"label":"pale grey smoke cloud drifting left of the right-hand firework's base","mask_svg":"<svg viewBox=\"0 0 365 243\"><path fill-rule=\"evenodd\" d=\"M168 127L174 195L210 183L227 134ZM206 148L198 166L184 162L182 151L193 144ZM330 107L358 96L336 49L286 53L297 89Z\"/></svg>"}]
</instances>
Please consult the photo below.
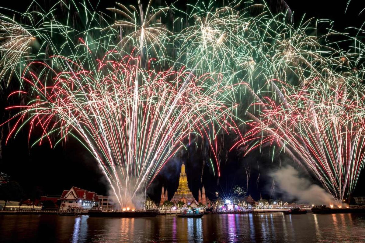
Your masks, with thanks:
<instances>
[{"instance_id":1,"label":"pale grey smoke cloud drifting left of the right-hand firework's base","mask_svg":"<svg viewBox=\"0 0 365 243\"><path fill-rule=\"evenodd\" d=\"M290 165L278 169L271 176L279 191L291 199L315 205L337 205L330 193L307 178L300 177L299 172Z\"/></svg>"}]
</instances>

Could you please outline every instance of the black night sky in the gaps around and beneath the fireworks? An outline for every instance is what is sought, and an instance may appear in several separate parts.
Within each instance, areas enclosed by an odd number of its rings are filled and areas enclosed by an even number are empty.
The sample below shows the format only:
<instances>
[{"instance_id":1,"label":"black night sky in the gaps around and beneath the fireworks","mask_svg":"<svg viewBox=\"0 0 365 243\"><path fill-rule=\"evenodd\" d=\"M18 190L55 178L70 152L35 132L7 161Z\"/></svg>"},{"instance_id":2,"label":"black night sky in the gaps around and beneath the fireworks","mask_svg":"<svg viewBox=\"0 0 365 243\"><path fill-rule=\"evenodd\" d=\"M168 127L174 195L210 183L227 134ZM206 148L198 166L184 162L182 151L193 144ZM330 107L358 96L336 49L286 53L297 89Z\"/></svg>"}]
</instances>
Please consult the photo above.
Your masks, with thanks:
<instances>
[{"instance_id":1,"label":"black night sky in the gaps around and beneath the fireworks","mask_svg":"<svg viewBox=\"0 0 365 243\"><path fill-rule=\"evenodd\" d=\"M21 12L28 6L27 2L30 3L31 1L22 0L21 3L19 1L1 1L0 7L16 9ZM39 2L47 1L41 0ZM103 0L99 8L114 6L114 2ZM183 3L185 1L180 2L181 5ZM296 22L300 21L304 13L306 13L306 18L331 19L335 21L335 28L343 31L349 26L360 27L365 20L365 13L358 16L358 13L365 7L363 1L351 1L349 10L345 14L346 3L347 0L287 0L286 4L281 1L271 1L270 7L273 10L283 9L287 5L294 12ZM7 90L3 93L7 93ZM6 98L1 98L0 109L3 114L6 105ZM1 117L3 120L5 119L4 115ZM1 130L2 138L7 135L7 131L7 129ZM7 146L2 139L1 155L0 171L7 173L12 180L18 181L26 192L30 191L32 187L40 186L45 194L61 194L62 190L76 186L96 191L99 194L107 193L105 180L97 169L95 160L75 141L70 140L66 146L61 145L54 149L49 148L47 144L29 149L27 132L24 130L16 138L12 138ZM204 153L191 148L181 155L181 159L169 161L161 174L151 184L148 191L149 195L158 200L163 183L167 185L169 197L172 197L172 193L177 188L181 160L184 160L187 164L189 187L195 196L197 196L201 181L205 185L207 196L211 198L214 198L215 191L228 193L235 184L246 186L246 168L250 168L251 173L249 194L253 195L254 199L258 199L260 193L266 198L270 196L268 188L272 179L268 174L278 161L271 163L265 154L260 155L258 152L253 152L243 158L236 151L226 154L226 150L224 150L222 151L220 166L222 176L218 179L216 175L213 175L210 162L204 161L203 157ZM260 180L257 180L259 175ZM360 189L364 182L365 175L362 173L354 195L362 193Z\"/></svg>"}]
</instances>

